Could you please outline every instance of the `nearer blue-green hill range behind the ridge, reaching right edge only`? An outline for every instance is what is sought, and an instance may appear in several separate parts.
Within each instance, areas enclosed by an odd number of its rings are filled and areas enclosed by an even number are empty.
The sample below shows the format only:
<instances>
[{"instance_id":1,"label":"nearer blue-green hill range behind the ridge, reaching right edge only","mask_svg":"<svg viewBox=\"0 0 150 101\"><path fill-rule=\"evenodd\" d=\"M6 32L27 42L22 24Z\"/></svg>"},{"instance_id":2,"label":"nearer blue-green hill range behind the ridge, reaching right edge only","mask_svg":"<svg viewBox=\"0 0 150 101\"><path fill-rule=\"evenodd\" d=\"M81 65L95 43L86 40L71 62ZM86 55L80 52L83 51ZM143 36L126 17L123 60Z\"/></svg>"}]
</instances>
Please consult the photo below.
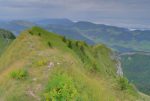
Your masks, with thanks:
<instances>
[{"instance_id":1,"label":"nearer blue-green hill range behind the ridge, reaching right edge only","mask_svg":"<svg viewBox=\"0 0 150 101\"><path fill-rule=\"evenodd\" d=\"M68 26L47 25L49 31L64 34L66 36L82 35L94 43L104 43L120 52L150 51L150 31L134 30L126 28L94 24L91 22L76 22Z\"/></svg>"}]
</instances>

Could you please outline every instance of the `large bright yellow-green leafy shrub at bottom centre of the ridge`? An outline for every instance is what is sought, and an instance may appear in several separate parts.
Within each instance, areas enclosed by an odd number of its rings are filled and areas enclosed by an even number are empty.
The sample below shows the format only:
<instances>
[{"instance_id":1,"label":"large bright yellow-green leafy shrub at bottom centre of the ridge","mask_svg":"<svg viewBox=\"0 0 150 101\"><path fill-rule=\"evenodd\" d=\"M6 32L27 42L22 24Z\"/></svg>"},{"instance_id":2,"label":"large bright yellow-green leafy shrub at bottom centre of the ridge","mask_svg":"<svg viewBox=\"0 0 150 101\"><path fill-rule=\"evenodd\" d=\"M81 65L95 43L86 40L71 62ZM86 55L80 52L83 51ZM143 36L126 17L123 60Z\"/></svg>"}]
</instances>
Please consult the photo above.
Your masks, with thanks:
<instances>
[{"instance_id":1,"label":"large bright yellow-green leafy shrub at bottom centre of the ridge","mask_svg":"<svg viewBox=\"0 0 150 101\"><path fill-rule=\"evenodd\" d=\"M55 75L46 87L46 101L74 101L78 92L72 79L65 74Z\"/></svg>"}]
</instances>

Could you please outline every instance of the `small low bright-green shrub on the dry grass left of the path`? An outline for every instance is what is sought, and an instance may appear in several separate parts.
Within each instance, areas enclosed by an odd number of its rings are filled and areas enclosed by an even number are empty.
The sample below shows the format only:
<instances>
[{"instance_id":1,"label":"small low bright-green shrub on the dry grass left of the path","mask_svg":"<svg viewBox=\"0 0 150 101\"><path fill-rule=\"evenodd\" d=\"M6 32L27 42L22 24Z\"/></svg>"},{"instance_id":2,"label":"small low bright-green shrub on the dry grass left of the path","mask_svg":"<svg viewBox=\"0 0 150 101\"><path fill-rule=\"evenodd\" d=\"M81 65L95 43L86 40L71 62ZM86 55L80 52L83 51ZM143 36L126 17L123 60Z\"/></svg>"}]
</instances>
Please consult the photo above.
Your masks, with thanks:
<instances>
[{"instance_id":1,"label":"small low bright-green shrub on the dry grass left of the path","mask_svg":"<svg viewBox=\"0 0 150 101\"><path fill-rule=\"evenodd\" d=\"M14 79L25 79L28 76L27 70L19 69L11 72L10 76Z\"/></svg>"}]
</instances>

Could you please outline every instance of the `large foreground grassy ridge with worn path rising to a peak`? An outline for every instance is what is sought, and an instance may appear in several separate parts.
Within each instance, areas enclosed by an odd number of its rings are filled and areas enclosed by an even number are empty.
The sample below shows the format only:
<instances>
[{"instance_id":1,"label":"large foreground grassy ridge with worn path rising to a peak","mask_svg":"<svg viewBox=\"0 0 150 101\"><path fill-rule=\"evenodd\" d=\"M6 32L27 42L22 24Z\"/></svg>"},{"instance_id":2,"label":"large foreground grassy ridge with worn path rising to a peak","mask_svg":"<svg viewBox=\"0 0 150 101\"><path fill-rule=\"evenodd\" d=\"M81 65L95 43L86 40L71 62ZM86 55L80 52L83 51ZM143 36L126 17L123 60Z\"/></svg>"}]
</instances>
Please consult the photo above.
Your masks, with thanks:
<instances>
[{"instance_id":1,"label":"large foreground grassy ridge with worn path rising to a peak","mask_svg":"<svg viewBox=\"0 0 150 101\"><path fill-rule=\"evenodd\" d=\"M33 27L0 58L0 101L144 100L116 75L110 56L104 45L88 46Z\"/></svg>"}]
</instances>

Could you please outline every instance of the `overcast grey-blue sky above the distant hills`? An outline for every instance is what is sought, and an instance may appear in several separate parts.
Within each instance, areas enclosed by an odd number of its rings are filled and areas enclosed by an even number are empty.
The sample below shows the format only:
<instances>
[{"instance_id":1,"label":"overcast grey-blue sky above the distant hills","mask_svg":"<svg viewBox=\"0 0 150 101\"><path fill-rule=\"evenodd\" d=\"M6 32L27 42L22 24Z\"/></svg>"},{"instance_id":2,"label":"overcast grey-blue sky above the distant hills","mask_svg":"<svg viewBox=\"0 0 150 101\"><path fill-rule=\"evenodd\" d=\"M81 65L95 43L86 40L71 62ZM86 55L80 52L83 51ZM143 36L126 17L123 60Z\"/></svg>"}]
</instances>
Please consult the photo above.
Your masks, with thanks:
<instances>
[{"instance_id":1,"label":"overcast grey-blue sky above the distant hills","mask_svg":"<svg viewBox=\"0 0 150 101\"><path fill-rule=\"evenodd\" d=\"M150 0L0 0L0 19L68 18L150 26Z\"/></svg>"}]
</instances>

